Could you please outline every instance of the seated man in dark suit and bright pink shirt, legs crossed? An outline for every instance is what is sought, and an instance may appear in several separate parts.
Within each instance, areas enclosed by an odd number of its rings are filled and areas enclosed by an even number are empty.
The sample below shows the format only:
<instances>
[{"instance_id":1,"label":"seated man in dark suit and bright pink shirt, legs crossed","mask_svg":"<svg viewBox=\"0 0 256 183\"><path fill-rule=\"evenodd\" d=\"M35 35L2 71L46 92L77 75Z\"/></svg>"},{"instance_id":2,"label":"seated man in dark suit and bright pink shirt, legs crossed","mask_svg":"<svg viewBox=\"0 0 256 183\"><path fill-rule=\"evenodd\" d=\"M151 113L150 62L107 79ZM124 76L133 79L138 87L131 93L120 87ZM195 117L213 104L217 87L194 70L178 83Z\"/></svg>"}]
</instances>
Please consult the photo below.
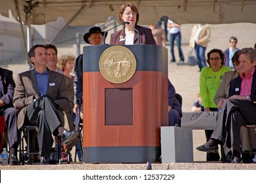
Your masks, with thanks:
<instances>
[{"instance_id":1,"label":"seated man in dark suit and bright pink shirt, legs crossed","mask_svg":"<svg viewBox=\"0 0 256 183\"><path fill-rule=\"evenodd\" d=\"M230 82L229 99L225 99L211 139L196 149L204 152L217 152L217 144L232 152L231 163L241 162L240 127L256 124L256 50L243 48L238 52L240 76Z\"/></svg>"}]
</instances>

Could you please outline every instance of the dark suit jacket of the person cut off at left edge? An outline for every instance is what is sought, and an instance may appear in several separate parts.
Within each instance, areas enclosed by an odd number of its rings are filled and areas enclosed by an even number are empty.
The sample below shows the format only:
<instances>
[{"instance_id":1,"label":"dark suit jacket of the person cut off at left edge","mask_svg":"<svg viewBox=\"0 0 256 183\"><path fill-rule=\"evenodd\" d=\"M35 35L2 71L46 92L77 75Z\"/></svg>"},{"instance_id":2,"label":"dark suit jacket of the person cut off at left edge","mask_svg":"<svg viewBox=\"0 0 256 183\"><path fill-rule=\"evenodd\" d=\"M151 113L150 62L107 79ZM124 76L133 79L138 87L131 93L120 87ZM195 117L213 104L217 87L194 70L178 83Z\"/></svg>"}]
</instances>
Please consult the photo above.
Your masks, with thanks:
<instances>
[{"instance_id":1,"label":"dark suit jacket of the person cut off at left edge","mask_svg":"<svg viewBox=\"0 0 256 183\"><path fill-rule=\"evenodd\" d=\"M0 67L0 97L7 107L12 107L15 82L12 78L12 71Z\"/></svg>"}]
</instances>

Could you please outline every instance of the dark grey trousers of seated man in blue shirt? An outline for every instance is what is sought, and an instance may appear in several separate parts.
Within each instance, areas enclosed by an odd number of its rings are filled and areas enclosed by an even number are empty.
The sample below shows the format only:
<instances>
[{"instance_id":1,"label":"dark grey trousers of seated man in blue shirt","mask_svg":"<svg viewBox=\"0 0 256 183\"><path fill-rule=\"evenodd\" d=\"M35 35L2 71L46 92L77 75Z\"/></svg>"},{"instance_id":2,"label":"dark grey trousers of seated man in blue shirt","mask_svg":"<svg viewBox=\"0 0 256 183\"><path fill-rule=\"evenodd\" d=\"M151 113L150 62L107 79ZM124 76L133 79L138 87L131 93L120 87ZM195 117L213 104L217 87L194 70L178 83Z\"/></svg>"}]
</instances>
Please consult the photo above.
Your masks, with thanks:
<instances>
[{"instance_id":1,"label":"dark grey trousers of seated man in blue shirt","mask_svg":"<svg viewBox=\"0 0 256 183\"><path fill-rule=\"evenodd\" d=\"M53 143L52 135L58 135L58 127L61 126L56 103L44 95L27 105L24 125L38 127L39 153L41 156L50 156Z\"/></svg>"}]
</instances>

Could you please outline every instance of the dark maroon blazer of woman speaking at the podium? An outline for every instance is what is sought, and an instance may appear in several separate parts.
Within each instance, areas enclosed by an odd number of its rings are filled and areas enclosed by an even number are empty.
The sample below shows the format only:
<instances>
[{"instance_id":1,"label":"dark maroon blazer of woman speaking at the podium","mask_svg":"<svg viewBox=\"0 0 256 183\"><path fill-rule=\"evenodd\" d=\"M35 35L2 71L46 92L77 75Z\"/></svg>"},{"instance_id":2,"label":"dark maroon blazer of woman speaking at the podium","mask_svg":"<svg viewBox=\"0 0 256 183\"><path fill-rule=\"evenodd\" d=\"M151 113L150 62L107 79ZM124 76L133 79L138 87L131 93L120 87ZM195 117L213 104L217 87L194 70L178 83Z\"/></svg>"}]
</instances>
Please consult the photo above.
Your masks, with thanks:
<instances>
[{"instance_id":1,"label":"dark maroon blazer of woman speaking at the podium","mask_svg":"<svg viewBox=\"0 0 256 183\"><path fill-rule=\"evenodd\" d=\"M156 44L151 29L136 25L135 29L139 31L140 43L141 44ZM138 43L137 32L134 33L134 44ZM122 29L111 34L110 44L111 45L124 45L125 44L125 30Z\"/></svg>"}]
</instances>

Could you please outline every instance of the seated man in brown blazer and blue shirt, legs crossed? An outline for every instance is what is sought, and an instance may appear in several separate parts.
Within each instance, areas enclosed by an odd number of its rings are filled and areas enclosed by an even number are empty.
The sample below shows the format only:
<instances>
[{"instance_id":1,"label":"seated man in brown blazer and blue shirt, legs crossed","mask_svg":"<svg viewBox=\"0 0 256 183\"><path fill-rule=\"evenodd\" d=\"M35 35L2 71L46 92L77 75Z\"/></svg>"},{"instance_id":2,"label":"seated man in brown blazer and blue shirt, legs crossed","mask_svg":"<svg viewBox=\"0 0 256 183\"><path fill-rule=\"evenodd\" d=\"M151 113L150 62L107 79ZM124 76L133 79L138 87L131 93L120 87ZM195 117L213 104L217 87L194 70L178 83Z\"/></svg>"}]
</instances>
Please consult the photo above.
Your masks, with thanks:
<instances>
[{"instance_id":1,"label":"seated man in brown blazer and blue shirt, legs crossed","mask_svg":"<svg viewBox=\"0 0 256 183\"><path fill-rule=\"evenodd\" d=\"M52 135L60 135L68 145L77 137L77 131L68 131L62 126L58 110L69 108L67 83L64 75L50 71L46 65L48 54L44 45L36 44L28 52L35 66L31 71L17 76L14 92L14 107L18 114L18 129L22 125L38 127L41 164L47 164L52 150Z\"/></svg>"}]
</instances>

